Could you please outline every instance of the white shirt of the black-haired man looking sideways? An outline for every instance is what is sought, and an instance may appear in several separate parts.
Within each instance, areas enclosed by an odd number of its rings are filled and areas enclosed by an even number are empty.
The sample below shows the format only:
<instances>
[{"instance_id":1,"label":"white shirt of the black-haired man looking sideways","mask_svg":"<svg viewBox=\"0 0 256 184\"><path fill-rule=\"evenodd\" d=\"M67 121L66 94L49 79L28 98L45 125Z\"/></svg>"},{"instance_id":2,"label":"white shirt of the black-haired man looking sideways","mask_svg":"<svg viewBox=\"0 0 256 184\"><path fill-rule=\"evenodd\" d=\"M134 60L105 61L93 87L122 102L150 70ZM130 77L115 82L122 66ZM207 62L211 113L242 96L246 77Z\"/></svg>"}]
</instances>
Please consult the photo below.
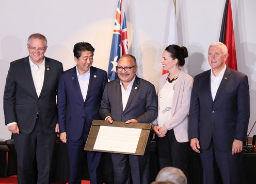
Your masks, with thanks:
<instances>
[{"instance_id":1,"label":"white shirt of the black-haired man looking sideways","mask_svg":"<svg viewBox=\"0 0 256 184\"><path fill-rule=\"evenodd\" d=\"M83 95L83 99L85 101L87 91L88 91L88 86L89 86L89 80L90 80L90 69L87 72L85 72L84 74L80 74L78 72L78 69L77 69L77 66L76 66L76 75L77 75L77 79L78 79L78 83L79 83L79 86L80 86L81 93Z\"/></svg>"}]
</instances>

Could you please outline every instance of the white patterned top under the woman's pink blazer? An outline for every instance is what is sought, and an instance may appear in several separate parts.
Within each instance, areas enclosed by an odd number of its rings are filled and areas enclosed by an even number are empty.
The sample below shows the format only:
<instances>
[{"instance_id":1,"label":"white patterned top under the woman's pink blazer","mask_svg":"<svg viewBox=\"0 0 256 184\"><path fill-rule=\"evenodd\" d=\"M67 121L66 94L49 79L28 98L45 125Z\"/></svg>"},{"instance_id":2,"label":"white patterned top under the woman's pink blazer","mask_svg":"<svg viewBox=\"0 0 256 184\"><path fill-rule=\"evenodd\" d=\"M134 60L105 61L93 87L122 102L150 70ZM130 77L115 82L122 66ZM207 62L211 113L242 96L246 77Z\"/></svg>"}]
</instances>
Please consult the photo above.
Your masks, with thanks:
<instances>
[{"instance_id":1,"label":"white patterned top under the woman's pink blazer","mask_svg":"<svg viewBox=\"0 0 256 184\"><path fill-rule=\"evenodd\" d=\"M158 95L158 126L163 126L171 118L171 106L177 80L168 82L166 80Z\"/></svg>"}]
</instances>

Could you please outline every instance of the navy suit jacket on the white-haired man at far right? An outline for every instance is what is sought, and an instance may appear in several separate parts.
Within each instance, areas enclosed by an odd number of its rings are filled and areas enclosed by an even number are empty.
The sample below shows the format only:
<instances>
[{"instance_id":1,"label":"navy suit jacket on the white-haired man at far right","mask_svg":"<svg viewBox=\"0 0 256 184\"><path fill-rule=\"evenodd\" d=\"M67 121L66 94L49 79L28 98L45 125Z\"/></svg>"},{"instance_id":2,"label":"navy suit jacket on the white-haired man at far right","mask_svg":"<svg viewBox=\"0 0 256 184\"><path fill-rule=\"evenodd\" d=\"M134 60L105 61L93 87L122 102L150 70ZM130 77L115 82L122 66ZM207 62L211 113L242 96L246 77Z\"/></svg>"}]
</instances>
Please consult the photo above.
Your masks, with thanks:
<instances>
[{"instance_id":1,"label":"navy suit jacket on the white-haired man at far right","mask_svg":"<svg viewBox=\"0 0 256 184\"><path fill-rule=\"evenodd\" d=\"M201 149L211 139L220 151L232 150L234 139L245 141L250 117L248 77L226 68L213 100L211 70L197 75L189 110L189 139L198 138Z\"/></svg>"}]
</instances>

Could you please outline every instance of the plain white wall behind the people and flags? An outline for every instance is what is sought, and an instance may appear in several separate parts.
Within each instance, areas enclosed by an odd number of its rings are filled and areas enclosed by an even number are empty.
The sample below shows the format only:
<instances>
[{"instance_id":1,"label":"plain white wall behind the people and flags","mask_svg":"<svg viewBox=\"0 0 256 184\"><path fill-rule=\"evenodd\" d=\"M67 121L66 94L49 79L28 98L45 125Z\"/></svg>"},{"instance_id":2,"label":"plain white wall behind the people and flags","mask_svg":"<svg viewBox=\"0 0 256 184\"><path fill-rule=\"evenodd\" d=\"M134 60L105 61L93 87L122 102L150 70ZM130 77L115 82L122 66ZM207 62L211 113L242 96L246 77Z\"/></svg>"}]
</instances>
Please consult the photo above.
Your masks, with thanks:
<instances>
[{"instance_id":1,"label":"plain white wall behind the people and flags","mask_svg":"<svg viewBox=\"0 0 256 184\"><path fill-rule=\"evenodd\" d=\"M75 65L73 46L86 41L95 48L96 67L107 70L117 0L44 0L0 2L0 140L10 138L4 123L3 93L9 63L28 55L27 37L42 33L48 40L45 56ZM166 47L168 9L172 0L124 0L129 49L139 63L139 76L157 86L159 64ZM207 49L219 40L225 0L177 0L179 43L187 47L184 70L195 76L209 69ZM238 70L249 77L251 117L256 119L255 0L231 0ZM249 131L248 131L249 132ZM256 134L253 128L250 136Z\"/></svg>"}]
</instances>

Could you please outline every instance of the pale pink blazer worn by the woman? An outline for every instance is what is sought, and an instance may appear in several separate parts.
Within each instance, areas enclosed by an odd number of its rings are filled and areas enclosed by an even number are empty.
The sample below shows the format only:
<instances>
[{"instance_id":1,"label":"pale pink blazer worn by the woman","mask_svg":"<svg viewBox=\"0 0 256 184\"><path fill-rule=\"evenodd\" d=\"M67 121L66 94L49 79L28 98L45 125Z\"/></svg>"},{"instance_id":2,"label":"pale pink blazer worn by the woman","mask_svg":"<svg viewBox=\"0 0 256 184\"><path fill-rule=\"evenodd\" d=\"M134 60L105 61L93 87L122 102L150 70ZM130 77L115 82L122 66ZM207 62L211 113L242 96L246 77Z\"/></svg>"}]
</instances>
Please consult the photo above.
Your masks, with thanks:
<instances>
[{"instance_id":1,"label":"pale pink blazer worn by the woman","mask_svg":"<svg viewBox=\"0 0 256 184\"><path fill-rule=\"evenodd\" d=\"M166 73L159 79L158 93L163 88L168 75L169 73ZM178 142L188 141L188 112L192 86L193 78L181 70L173 94L171 117L164 124L168 130L173 128L175 138ZM158 117L152 124L158 125Z\"/></svg>"}]
</instances>

